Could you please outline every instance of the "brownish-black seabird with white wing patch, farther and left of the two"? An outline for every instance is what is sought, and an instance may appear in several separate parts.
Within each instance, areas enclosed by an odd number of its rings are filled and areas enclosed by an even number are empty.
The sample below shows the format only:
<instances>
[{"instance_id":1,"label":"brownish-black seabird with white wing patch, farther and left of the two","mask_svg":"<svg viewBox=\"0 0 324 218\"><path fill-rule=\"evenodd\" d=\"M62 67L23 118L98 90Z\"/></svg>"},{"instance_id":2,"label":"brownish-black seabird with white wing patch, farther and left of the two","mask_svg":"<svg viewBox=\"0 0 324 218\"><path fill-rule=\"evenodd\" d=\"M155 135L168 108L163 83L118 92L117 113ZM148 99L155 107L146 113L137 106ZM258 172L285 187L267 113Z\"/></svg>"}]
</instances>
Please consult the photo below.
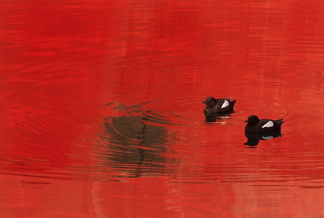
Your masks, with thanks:
<instances>
[{"instance_id":1,"label":"brownish-black seabird with white wing patch, farther and left of the two","mask_svg":"<svg viewBox=\"0 0 324 218\"><path fill-rule=\"evenodd\" d=\"M209 113L223 113L233 110L236 100L231 101L231 98L218 98L208 97L201 103L206 104L203 112Z\"/></svg>"}]
</instances>

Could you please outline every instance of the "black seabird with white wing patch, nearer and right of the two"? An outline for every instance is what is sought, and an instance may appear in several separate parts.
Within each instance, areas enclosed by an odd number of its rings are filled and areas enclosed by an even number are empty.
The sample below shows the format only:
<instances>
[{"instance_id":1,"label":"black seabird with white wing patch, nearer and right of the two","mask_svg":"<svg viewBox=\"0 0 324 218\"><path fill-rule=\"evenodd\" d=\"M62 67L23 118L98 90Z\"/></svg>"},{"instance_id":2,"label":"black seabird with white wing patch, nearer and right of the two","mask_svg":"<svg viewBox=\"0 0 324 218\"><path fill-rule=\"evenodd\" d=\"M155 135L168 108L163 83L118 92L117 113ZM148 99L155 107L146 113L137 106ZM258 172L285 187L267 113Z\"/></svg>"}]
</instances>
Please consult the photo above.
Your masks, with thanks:
<instances>
[{"instance_id":1,"label":"black seabird with white wing patch, nearer and right of the two","mask_svg":"<svg viewBox=\"0 0 324 218\"><path fill-rule=\"evenodd\" d=\"M282 121L284 118L280 120L268 120L268 119L261 119L255 115L251 115L248 117L245 126L245 131L250 133L264 133L264 132L273 132L277 129L280 129L281 125L284 123Z\"/></svg>"}]
</instances>

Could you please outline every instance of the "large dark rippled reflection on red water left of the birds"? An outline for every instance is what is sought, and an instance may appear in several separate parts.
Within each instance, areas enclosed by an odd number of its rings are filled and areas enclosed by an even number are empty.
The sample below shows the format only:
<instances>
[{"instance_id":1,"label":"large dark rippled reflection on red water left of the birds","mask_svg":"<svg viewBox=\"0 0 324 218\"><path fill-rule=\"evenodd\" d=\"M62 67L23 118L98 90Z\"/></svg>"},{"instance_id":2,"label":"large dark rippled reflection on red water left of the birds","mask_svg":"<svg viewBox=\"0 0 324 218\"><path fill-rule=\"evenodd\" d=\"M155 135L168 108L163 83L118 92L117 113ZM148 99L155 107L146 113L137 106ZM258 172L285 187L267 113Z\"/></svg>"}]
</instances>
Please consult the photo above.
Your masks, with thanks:
<instances>
[{"instance_id":1,"label":"large dark rippled reflection on red water left of the birds","mask_svg":"<svg viewBox=\"0 0 324 218\"><path fill-rule=\"evenodd\" d=\"M146 124L142 116L110 117L104 121L105 132L99 137L102 144L100 159L116 171L126 171L131 177L158 174L163 171L165 153L163 143L166 130Z\"/></svg>"}]
</instances>

